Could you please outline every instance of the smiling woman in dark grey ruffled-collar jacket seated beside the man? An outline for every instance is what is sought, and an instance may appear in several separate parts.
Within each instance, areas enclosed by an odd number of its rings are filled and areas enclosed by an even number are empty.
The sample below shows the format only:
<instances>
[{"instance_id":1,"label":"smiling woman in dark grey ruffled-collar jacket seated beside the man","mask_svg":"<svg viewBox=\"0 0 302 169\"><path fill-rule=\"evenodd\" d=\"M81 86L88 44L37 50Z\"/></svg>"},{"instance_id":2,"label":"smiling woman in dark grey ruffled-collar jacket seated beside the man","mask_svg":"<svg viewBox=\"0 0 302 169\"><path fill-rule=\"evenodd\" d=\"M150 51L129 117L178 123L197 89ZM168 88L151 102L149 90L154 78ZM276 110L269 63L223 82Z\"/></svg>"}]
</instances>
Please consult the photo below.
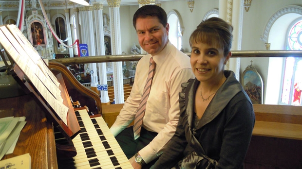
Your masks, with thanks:
<instances>
[{"instance_id":1,"label":"smiling woman in dark grey ruffled-collar jacket seated beside the man","mask_svg":"<svg viewBox=\"0 0 302 169\"><path fill-rule=\"evenodd\" d=\"M175 135L152 169L243 169L255 115L234 72L224 70L231 57L232 30L212 17L191 34L196 78L182 84Z\"/></svg>"}]
</instances>

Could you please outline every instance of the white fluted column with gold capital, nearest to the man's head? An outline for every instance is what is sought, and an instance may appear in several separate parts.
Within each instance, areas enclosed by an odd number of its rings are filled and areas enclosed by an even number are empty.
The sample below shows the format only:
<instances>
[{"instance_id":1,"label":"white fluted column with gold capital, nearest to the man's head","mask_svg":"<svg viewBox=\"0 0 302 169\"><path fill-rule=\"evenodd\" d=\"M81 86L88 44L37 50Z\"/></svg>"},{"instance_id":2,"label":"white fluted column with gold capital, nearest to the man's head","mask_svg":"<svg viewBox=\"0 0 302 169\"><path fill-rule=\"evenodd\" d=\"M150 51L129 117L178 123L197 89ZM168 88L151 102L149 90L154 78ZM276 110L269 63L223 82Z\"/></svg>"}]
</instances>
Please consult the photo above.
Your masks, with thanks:
<instances>
[{"instance_id":1,"label":"white fluted column with gold capital, nearest to the man's head","mask_svg":"<svg viewBox=\"0 0 302 169\"><path fill-rule=\"evenodd\" d=\"M121 0L107 0L110 13L112 54L122 54L119 7ZM124 103L122 62L113 62L113 87L115 103Z\"/></svg>"}]
</instances>

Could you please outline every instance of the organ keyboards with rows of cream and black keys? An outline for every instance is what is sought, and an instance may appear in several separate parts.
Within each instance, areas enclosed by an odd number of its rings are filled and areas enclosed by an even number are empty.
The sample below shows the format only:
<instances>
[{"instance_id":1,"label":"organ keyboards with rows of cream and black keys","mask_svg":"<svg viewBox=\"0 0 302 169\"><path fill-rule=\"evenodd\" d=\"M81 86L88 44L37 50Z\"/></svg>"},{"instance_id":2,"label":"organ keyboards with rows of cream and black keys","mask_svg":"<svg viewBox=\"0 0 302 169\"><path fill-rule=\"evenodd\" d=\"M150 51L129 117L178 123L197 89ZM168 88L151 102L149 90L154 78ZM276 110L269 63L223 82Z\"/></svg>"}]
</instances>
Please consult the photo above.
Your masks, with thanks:
<instances>
[{"instance_id":1,"label":"organ keyboards with rows of cream and black keys","mask_svg":"<svg viewBox=\"0 0 302 169\"><path fill-rule=\"evenodd\" d=\"M61 169L132 169L102 117L90 118L85 109L75 111L80 133L73 139L76 156L62 160Z\"/></svg>"}]
</instances>

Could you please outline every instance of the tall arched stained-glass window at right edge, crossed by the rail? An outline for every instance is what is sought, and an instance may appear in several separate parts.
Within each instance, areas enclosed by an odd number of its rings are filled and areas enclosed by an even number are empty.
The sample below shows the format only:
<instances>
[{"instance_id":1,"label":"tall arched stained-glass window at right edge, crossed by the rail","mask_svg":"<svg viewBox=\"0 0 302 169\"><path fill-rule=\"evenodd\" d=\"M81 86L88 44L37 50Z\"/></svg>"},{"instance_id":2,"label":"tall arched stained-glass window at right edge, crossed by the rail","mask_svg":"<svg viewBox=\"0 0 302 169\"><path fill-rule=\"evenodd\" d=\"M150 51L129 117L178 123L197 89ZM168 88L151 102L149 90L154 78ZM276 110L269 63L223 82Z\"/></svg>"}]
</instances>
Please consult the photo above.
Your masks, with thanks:
<instances>
[{"instance_id":1,"label":"tall arched stained-glass window at right edge, crossed by the rail","mask_svg":"<svg viewBox=\"0 0 302 169\"><path fill-rule=\"evenodd\" d=\"M301 14L300 6L279 10L267 22L261 40L270 43L270 50L302 50ZM270 57L264 103L302 105L301 72L302 58Z\"/></svg>"}]
</instances>

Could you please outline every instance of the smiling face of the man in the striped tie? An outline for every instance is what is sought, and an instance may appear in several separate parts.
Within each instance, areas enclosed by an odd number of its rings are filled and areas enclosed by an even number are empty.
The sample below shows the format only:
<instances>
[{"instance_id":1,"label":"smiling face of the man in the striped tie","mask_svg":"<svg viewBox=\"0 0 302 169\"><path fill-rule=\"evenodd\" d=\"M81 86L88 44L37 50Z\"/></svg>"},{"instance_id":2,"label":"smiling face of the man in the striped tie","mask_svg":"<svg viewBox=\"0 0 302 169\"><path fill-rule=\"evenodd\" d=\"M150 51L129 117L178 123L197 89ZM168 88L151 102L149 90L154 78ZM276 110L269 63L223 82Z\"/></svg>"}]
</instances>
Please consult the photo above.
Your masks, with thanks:
<instances>
[{"instance_id":1,"label":"smiling face of the man in the striped tie","mask_svg":"<svg viewBox=\"0 0 302 169\"><path fill-rule=\"evenodd\" d=\"M143 50L154 56L168 43L169 24L164 27L157 17L139 17L136 19L136 34Z\"/></svg>"}]
</instances>

